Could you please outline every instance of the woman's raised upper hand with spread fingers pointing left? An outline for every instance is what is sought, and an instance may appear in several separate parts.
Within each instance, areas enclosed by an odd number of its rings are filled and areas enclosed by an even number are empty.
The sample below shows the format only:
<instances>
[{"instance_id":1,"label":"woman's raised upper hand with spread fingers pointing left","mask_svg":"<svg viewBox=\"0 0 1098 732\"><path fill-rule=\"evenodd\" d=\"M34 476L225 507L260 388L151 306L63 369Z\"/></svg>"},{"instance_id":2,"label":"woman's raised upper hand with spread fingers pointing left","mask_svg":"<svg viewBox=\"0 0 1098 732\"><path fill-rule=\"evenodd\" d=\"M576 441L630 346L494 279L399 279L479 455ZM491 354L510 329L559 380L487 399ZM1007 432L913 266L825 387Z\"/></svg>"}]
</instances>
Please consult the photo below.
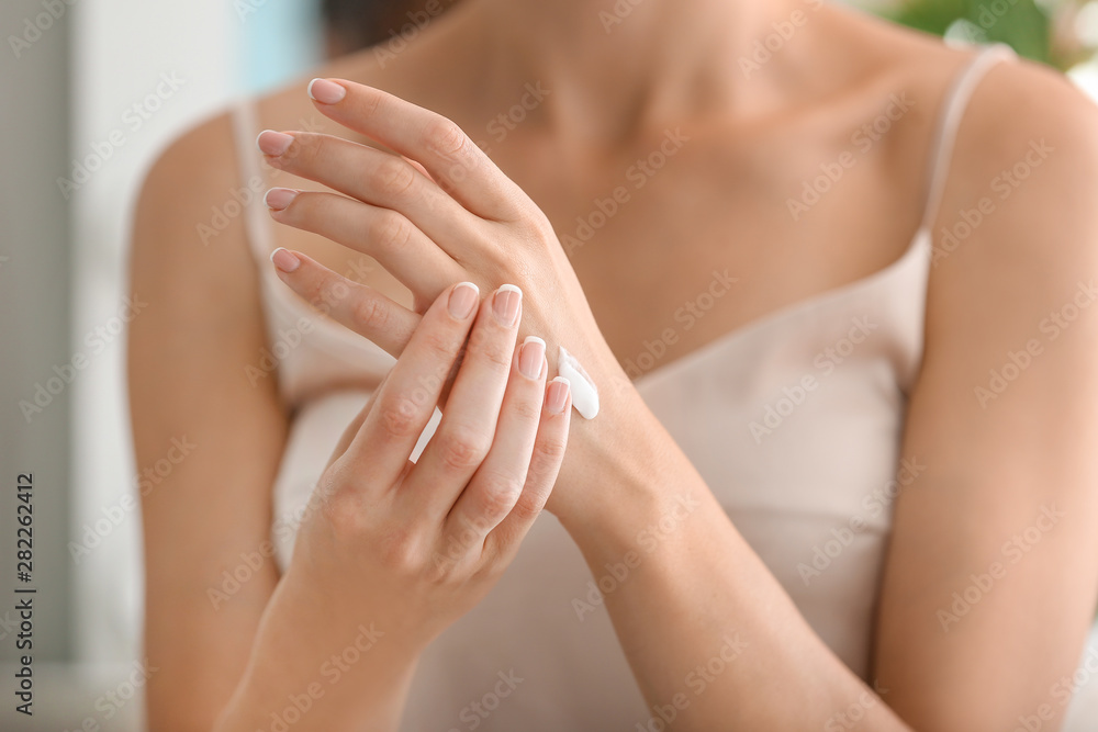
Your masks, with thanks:
<instances>
[{"instance_id":1,"label":"woman's raised upper hand with spread fingers pointing left","mask_svg":"<svg viewBox=\"0 0 1098 732\"><path fill-rule=\"evenodd\" d=\"M549 219L457 124L351 81L314 80L310 95L326 116L393 153L318 133L264 132L258 145L272 167L343 194L272 189L271 216L374 258L414 305L298 252L276 256L283 282L393 356L447 286L515 283L525 293L520 336L546 340L551 374L563 346L596 386L628 384Z\"/></svg>"}]
</instances>

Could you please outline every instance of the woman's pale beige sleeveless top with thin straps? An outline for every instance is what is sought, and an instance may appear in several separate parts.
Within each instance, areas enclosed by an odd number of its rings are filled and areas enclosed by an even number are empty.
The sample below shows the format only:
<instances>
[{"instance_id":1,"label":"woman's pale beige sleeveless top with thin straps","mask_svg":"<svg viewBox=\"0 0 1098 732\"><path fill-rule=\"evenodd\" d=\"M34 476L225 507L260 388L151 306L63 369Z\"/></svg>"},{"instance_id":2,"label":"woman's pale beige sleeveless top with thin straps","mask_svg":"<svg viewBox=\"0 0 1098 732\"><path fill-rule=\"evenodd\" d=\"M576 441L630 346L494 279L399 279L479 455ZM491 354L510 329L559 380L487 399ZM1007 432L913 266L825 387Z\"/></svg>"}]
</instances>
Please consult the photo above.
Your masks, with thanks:
<instances>
[{"instance_id":1,"label":"woman's pale beige sleeveless top with thin straps","mask_svg":"<svg viewBox=\"0 0 1098 732\"><path fill-rule=\"evenodd\" d=\"M921 470L917 458L901 464L899 448L922 358L930 226L972 91L1010 57L1005 46L982 49L948 90L925 217L898 260L635 382L808 623L863 678L892 505ZM261 177L254 100L235 109L234 122L250 181ZM264 378L278 380L293 409L273 487L272 538L284 568L309 494L394 359L278 280L270 226L256 196L248 236L277 361ZM544 514L488 597L422 657L401 730L641 729L647 706L597 592L568 533Z\"/></svg>"}]
</instances>

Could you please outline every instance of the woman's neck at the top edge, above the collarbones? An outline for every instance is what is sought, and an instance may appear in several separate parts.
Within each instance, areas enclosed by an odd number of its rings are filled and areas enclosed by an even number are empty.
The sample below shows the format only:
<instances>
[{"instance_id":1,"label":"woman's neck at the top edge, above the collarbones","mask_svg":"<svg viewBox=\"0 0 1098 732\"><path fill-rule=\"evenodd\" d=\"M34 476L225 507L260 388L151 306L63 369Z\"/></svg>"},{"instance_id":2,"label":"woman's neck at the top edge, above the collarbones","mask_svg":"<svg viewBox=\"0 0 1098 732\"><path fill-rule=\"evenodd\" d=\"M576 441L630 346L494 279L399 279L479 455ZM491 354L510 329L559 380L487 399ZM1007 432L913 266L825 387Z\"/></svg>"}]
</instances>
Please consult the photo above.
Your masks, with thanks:
<instances>
[{"instance_id":1,"label":"woman's neck at the top edge, above the collarbones","mask_svg":"<svg viewBox=\"0 0 1098 732\"><path fill-rule=\"evenodd\" d=\"M803 0L463 0L486 83L549 90L537 110L594 145L753 104L740 66ZM535 115L531 115L535 116Z\"/></svg>"}]
</instances>

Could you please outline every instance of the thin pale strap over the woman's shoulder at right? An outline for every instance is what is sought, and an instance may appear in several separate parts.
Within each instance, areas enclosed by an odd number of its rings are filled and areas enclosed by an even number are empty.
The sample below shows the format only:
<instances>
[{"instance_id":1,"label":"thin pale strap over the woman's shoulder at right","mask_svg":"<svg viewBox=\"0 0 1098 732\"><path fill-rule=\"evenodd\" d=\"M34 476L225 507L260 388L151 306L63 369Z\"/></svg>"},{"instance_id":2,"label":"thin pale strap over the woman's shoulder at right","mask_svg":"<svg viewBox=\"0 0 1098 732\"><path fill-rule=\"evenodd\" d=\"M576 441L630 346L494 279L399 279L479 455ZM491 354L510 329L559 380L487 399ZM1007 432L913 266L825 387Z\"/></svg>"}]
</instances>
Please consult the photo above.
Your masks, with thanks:
<instances>
[{"instance_id":1,"label":"thin pale strap over the woman's shoulder at right","mask_svg":"<svg viewBox=\"0 0 1098 732\"><path fill-rule=\"evenodd\" d=\"M942 104L942 114L934 131L934 139L930 146L930 182L927 185L920 229L930 230L938 216L938 209L941 205L942 195L945 193L945 181L949 178L957 127L961 126L961 119L968 106L973 91L993 66L1001 60L1016 57L1010 46L1005 44L986 46L976 53L950 85Z\"/></svg>"}]
</instances>

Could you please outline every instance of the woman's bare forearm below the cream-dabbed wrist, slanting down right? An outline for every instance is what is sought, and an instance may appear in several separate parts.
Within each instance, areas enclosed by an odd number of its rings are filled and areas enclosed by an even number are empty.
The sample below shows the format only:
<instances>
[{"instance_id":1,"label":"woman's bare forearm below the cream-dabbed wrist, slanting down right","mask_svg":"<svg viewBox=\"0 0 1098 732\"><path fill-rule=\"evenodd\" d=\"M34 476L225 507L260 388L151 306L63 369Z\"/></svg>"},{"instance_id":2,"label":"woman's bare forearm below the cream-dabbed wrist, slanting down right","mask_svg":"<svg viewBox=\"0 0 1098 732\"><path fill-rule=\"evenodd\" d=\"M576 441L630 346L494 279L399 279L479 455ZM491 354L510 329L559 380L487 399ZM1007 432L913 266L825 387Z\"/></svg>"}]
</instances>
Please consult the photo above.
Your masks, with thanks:
<instances>
[{"instance_id":1,"label":"woman's bare forearm below the cream-dabbed wrist, slanting down right","mask_svg":"<svg viewBox=\"0 0 1098 732\"><path fill-rule=\"evenodd\" d=\"M593 498L562 522L649 713L681 730L907 729L808 627L651 413L624 408L612 437L593 421L570 453L564 480L583 485L568 488ZM603 611L589 599L578 612Z\"/></svg>"}]
</instances>

